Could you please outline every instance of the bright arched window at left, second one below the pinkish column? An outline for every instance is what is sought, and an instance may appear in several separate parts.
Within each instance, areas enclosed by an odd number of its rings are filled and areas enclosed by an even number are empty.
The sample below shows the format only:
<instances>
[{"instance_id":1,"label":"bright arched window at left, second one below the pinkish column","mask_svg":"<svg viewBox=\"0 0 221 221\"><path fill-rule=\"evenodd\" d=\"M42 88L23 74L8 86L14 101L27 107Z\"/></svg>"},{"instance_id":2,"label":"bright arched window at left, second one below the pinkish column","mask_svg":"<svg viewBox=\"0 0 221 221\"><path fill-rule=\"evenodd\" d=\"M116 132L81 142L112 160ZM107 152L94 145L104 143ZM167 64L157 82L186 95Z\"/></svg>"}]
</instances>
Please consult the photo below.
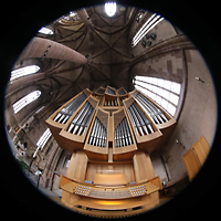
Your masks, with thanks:
<instances>
[{"instance_id":1,"label":"bright arched window at left, second one below the pinkish column","mask_svg":"<svg viewBox=\"0 0 221 221\"><path fill-rule=\"evenodd\" d=\"M30 104L31 102L35 101L36 98L39 98L41 95L40 91L34 91L30 94L28 94L27 96L22 97L21 99L19 99L18 102L15 102L12 106L13 106L13 112L14 114L17 114L19 110L21 110L23 107L25 107L28 104Z\"/></svg>"}]
</instances>

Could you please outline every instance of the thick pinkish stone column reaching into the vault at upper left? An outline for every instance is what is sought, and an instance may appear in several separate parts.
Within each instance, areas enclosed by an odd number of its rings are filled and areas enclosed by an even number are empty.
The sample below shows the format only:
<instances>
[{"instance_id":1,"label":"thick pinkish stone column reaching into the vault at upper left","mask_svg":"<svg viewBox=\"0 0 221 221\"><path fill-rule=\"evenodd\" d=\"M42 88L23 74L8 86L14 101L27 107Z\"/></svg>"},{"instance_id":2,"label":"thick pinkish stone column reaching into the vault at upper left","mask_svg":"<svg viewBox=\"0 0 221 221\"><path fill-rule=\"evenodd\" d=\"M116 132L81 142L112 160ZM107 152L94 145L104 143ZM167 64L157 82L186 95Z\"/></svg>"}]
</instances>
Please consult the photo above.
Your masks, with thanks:
<instances>
[{"instance_id":1,"label":"thick pinkish stone column reaching into the vault at upper left","mask_svg":"<svg viewBox=\"0 0 221 221\"><path fill-rule=\"evenodd\" d=\"M78 52L65 46L61 43L49 39L33 38L24 51L21 53L20 60L28 57L49 57L59 59L80 64L86 64L87 59Z\"/></svg>"}]
</instances>

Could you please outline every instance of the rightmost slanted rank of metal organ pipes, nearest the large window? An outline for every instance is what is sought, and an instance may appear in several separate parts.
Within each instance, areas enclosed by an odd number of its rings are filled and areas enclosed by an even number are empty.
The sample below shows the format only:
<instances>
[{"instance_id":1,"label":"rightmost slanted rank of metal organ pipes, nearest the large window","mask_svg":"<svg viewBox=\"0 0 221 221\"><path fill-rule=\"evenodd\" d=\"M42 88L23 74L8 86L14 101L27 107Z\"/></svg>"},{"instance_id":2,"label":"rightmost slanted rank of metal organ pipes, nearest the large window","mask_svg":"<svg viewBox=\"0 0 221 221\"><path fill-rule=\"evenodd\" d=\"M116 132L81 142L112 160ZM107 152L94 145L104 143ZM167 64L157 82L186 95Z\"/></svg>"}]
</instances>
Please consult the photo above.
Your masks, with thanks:
<instances>
[{"instance_id":1,"label":"rightmost slanted rank of metal organ pipes, nearest the large window","mask_svg":"<svg viewBox=\"0 0 221 221\"><path fill-rule=\"evenodd\" d=\"M144 106L146 112L150 115L150 117L154 119L156 124L162 124L165 122L168 122L164 113L140 93L136 95L136 99Z\"/></svg>"}]
</instances>

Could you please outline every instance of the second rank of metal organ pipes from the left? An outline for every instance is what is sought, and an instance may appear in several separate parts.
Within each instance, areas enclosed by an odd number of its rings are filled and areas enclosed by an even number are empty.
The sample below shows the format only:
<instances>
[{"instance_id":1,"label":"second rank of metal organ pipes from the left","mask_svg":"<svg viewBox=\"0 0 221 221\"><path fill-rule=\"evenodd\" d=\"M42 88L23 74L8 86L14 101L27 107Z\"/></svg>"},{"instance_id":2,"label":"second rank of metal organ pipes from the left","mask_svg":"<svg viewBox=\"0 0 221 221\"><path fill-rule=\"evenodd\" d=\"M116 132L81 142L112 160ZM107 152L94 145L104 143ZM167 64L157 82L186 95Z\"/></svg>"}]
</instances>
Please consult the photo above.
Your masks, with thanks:
<instances>
[{"instance_id":1,"label":"second rank of metal organ pipes from the left","mask_svg":"<svg viewBox=\"0 0 221 221\"><path fill-rule=\"evenodd\" d=\"M80 113L72 120L67 131L73 135L84 136L93 112L94 107L90 104L90 102L86 102Z\"/></svg>"}]
</instances>

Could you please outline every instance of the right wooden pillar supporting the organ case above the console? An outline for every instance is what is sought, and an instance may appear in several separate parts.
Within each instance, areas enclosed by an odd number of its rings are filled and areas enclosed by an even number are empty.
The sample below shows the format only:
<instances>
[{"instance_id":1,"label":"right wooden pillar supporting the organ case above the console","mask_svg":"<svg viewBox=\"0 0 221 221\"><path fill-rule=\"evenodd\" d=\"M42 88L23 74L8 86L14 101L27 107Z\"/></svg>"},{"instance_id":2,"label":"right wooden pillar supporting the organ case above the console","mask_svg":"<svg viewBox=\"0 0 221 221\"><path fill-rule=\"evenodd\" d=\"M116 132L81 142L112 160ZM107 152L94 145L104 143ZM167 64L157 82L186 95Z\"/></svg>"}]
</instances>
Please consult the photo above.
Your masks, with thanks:
<instances>
[{"instance_id":1,"label":"right wooden pillar supporting the organ case above the console","mask_svg":"<svg viewBox=\"0 0 221 221\"><path fill-rule=\"evenodd\" d=\"M148 154L137 151L133 158L135 178L137 183L145 182L155 178L155 171Z\"/></svg>"}]
</instances>

